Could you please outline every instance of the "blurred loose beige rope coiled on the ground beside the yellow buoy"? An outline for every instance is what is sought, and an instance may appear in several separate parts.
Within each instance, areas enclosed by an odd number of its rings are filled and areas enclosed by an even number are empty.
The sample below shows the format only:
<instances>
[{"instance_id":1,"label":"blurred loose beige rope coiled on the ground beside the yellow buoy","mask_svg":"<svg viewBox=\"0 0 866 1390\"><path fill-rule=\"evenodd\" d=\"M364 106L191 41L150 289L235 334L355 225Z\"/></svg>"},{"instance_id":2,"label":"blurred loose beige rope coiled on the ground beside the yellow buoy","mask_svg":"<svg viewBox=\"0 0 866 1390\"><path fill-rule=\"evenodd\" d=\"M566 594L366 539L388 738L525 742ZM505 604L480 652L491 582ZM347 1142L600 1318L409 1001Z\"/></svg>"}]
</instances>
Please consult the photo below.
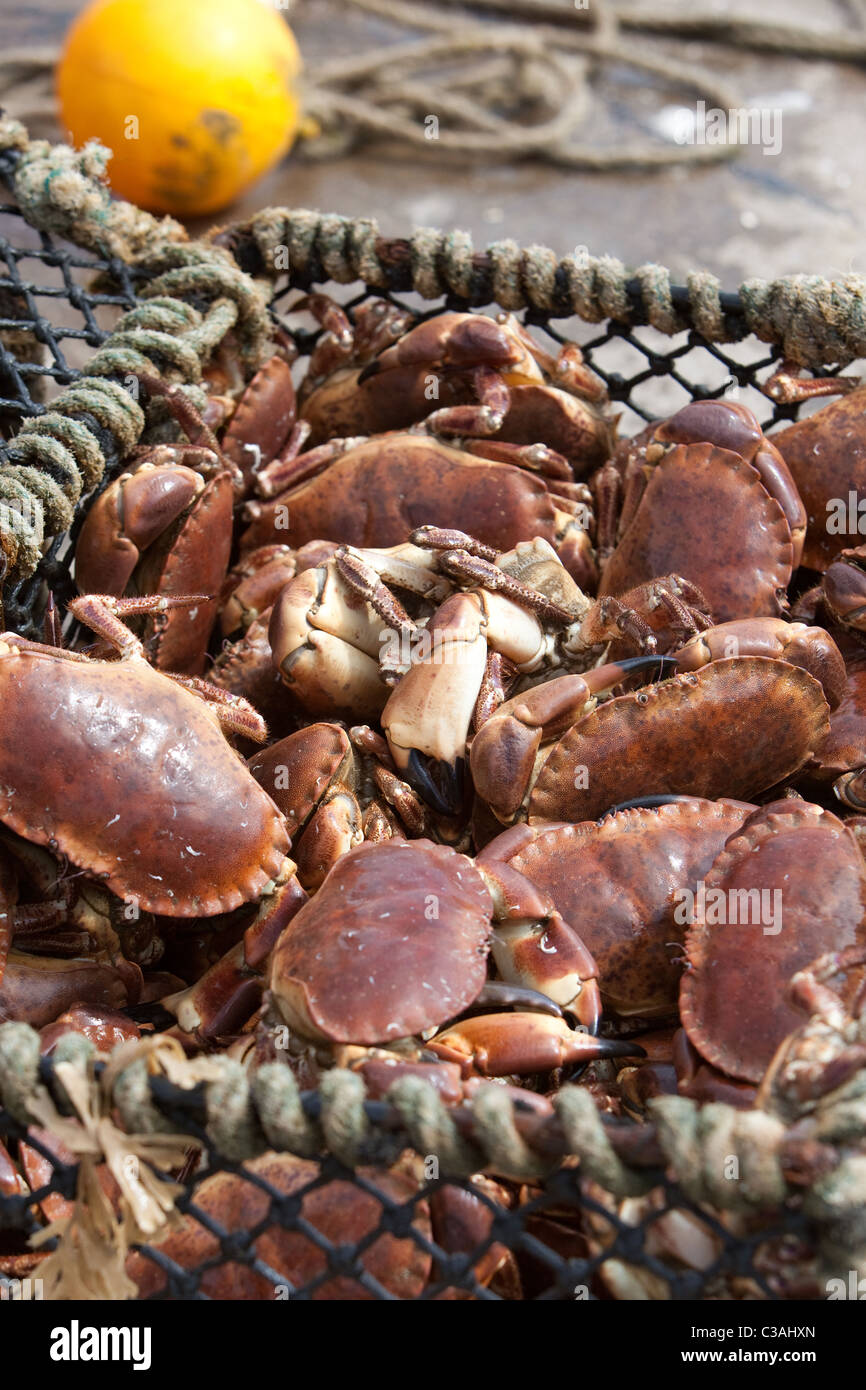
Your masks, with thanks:
<instances>
[{"instance_id":1,"label":"blurred loose beige rope coiled on the ground beside the yellow buoy","mask_svg":"<svg viewBox=\"0 0 866 1390\"><path fill-rule=\"evenodd\" d=\"M632 35L702 38L812 60L866 60L862 31L812 31L712 8L656 11L613 0L592 0L584 8L574 0L445 0L445 6L343 0L343 8L420 38L392 39L307 74L309 120L299 145L310 158L331 158L364 139L385 139L416 154L532 157L594 171L716 163L735 153L738 136L721 145L676 146L627 139L599 146L595 139L575 139L598 104L592 81L602 64L631 67L721 110L740 104L713 71L648 53L642 38ZM51 75L57 57L58 50L40 46L0 58L6 110L39 133L56 131ZM431 113L439 122L435 140L427 124Z\"/></svg>"}]
</instances>

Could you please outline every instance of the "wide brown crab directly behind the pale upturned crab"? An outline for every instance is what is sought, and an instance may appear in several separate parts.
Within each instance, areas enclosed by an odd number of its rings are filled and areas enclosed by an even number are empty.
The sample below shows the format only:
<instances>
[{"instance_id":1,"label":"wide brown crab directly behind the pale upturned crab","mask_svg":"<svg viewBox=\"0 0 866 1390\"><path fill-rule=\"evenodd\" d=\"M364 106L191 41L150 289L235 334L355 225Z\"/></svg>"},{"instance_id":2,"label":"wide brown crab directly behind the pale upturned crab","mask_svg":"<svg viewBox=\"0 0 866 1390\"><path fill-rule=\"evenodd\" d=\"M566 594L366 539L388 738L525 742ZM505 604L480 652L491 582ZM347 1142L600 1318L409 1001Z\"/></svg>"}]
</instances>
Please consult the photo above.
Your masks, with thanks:
<instances>
[{"instance_id":1,"label":"wide brown crab directly behind the pale upturned crab","mask_svg":"<svg viewBox=\"0 0 866 1390\"><path fill-rule=\"evenodd\" d=\"M464 528L496 550L544 537L578 584L595 581L591 493L544 445L460 446L409 432L335 439L257 481L267 500L246 503L242 550L309 541L382 549L430 524Z\"/></svg>"}]
</instances>

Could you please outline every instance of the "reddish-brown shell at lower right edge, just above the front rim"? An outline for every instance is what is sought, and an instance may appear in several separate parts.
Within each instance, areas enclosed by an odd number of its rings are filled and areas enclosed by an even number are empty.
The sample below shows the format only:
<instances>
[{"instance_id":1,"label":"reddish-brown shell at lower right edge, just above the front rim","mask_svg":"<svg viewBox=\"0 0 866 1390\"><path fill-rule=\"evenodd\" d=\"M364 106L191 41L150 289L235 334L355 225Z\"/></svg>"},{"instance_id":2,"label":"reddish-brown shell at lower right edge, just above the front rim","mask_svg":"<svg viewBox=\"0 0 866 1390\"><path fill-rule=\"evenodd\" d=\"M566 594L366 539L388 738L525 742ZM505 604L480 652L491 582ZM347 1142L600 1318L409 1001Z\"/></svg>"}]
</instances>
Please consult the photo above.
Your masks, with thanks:
<instances>
[{"instance_id":1,"label":"reddish-brown shell at lower right edge, just above the front rim","mask_svg":"<svg viewBox=\"0 0 866 1390\"><path fill-rule=\"evenodd\" d=\"M724 924L710 920L712 890L727 895ZM749 916L744 894L755 890L778 891L781 920L767 912L767 920L755 922L752 912L748 923L734 922ZM728 840L705 891L706 905L685 937L683 1026L713 1066L759 1081L783 1040L802 1024L788 998L791 976L827 951L866 941L866 865L831 812L809 802L773 802ZM767 906L773 903L769 898Z\"/></svg>"}]
</instances>

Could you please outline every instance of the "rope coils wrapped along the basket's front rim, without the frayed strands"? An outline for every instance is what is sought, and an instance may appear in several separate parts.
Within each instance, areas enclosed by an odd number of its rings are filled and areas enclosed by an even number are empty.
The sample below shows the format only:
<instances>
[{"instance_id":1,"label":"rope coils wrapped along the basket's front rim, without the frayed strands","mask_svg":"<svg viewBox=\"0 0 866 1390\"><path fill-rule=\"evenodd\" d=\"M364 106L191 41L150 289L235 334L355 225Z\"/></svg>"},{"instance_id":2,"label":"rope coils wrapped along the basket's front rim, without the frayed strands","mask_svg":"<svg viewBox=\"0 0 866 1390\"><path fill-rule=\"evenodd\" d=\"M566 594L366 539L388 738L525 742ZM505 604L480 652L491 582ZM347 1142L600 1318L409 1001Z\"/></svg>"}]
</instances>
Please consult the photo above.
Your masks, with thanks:
<instances>
[{"instance_id":1,"label":"rope coils wrapped along the basket's front rim, without the frayed strands","mask_svg":"<svg viewBox=\"0 0 866 1390\"><path fill-rule=\"evenodd\" d=\"M189 1090L170 1087L170 1094L163 1090L157 1099L152 1086L157 1042L150 1038L125 1044L108 1062L110 1104L128 1134L177 1133L183 1101L190 1115ZM57 1093L54 1069L60 1061L93 1058L92 1044L74 1034L61 1040L49 1063L40 1059L39 1047L39 1033L29 1024L0 1026L0 1099L22 1126L33 1122L35 1097L44 1095L46 1087ZM409 1141L418 1154L436 1156L443 1177L488 1169L539 1180L563 1156L573 1155L588 1177L619 1198L649 1193L664 1169L692 1201L719 1211L777 1208L803 1191L785 1177L794 1131L765 1111L699 1105L666 1095L649 1102L651 1125L623 1127L605 1123L587 1090L564 1086L553 1099L556 1119L539 1126L537 1116L495 1083L480 1087L471 1101L455 1109L417 1076L395 1081L384 1102L368 1102L363 1079L341 1069L322 1076L316 1097L303 1097L292 1070L282 1063L268 1063L250 1074L239 1062L215 1055L172 1063L170 1074L172 1083L185 1081L186 1087L202 1083L192 1111L203 1111L207 1138L234 1162L268 1150L302 1158L328 1151L356 1168L393 1161ZM849 1093L849 1087L844 1090ZM860 1087L859 1133L865 1105ZM826 1118L823 1123L826 1127ZM196 1129L193 1123L193 1137ZM642 1136L639 1147L627 1143L628 1133ZM820 1176L810 1184L812 1208L826 1211L838 1225L841 1212L866 1201L866 1156L827 1147L824 1158Z\"/></svg>"}]
</instances>

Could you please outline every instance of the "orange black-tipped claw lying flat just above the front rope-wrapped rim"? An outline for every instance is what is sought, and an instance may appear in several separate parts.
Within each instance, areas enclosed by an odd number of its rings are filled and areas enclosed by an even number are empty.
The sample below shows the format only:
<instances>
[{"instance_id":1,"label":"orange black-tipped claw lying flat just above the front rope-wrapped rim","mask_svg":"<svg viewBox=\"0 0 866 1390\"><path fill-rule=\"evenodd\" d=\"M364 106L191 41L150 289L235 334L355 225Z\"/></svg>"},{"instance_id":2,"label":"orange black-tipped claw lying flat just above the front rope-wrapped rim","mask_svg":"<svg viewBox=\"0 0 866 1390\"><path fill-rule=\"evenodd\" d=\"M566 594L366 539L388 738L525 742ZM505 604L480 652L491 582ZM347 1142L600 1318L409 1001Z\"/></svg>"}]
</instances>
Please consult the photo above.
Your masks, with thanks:
<instances>
[{"instance_id":1,"label":"orange black-tipped claw lying flat just above the front rope-wrapped rim","mask_svg":"<svg viewBox=\"0 0 866 1390\"><path fill-rule=\"evenodd\" d=\"M635 1042L596 1038L545 1013L480 1013L450 1024L427 1047L456 1062L464 1076L530 1076L598 1058L645 1055Z\"/></svg>"}]
</instances>

